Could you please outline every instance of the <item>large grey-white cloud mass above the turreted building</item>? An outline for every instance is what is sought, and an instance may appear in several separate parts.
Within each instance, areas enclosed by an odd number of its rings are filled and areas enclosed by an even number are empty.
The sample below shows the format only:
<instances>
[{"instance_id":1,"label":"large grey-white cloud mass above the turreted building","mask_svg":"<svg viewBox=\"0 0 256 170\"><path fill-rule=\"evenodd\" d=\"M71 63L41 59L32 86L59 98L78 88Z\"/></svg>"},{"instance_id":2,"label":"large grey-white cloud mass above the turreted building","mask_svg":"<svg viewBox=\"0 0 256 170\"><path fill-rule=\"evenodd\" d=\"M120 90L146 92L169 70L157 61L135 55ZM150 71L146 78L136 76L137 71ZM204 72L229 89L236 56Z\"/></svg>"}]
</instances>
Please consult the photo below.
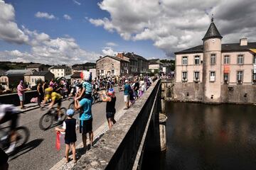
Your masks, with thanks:
<instances>
[{"instance_id":1,"label":"large grey-white cloud mass above the turreted building","mask_svg":"<svg viewBox=\"0 0 256 170\"><path fill-rule=\"evenodd\" d=\"M89 18L90 23L115 31L124 40L152 40L168 56L201 45L212 13L223 42L256 40L253 0L103 0L98 5L110 18Z\"/></svg>"}]
</instances>

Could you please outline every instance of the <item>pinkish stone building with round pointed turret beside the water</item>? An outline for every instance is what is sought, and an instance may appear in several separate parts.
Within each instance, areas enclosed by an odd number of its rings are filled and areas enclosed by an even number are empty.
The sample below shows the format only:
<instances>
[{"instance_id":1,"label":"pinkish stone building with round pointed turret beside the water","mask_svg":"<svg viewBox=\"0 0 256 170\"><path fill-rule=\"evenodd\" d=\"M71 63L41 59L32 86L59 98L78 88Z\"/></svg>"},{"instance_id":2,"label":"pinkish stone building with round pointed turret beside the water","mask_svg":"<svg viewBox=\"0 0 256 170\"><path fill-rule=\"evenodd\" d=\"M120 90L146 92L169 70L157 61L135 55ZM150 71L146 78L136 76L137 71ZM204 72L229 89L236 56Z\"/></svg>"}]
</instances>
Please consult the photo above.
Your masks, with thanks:
<instances>
[{"instance_id":1,"label":"pinkish stone building with round pointed turret beside the water","mask_svg":"<svg viewBox=\"0 0 256 170\"><path fill-rule=\"evenodd\" d=\"M174 98L206 103L256 102L256 42L222 44L212 22L203 45L176 55Z\"/></svg>"}]
</instances>

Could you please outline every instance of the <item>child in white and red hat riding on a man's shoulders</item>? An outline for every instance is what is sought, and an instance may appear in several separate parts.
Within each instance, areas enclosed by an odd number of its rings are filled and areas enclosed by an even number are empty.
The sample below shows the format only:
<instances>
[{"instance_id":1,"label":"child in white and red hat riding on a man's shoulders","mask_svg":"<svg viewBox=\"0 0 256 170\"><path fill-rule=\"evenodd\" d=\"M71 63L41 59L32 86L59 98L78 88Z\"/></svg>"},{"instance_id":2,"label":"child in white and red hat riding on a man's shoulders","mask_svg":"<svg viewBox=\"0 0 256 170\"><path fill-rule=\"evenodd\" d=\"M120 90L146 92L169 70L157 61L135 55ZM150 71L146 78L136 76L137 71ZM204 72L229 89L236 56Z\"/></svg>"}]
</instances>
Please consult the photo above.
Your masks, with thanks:
<instances>
[{"instance_id":1,"label":"child in white and red hat riding on a man's shoulders","mask_svg":"<svg viewBox=\"0 0 256 170\"><path fill-rule=\"evenodd\" d=\"M90 72L81 72L80 74L81 79L84 80L82 83L82 93L78 96L78 100L82 98L91 98L92 97L92 75Z\"/></svg>"}]
</instances>

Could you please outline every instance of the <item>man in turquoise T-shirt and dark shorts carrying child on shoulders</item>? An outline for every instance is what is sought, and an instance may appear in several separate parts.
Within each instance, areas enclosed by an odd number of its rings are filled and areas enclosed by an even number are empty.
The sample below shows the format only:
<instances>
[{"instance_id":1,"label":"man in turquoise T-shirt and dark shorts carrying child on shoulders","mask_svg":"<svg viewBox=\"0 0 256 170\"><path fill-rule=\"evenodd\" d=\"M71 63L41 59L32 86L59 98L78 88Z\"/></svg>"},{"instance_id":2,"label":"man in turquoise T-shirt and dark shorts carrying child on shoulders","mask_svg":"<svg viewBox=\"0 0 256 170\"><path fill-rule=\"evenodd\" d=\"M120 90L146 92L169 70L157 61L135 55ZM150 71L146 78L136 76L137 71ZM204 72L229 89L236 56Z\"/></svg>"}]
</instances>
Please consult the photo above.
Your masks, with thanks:
<instances>
[{"instance_id":1,"label":"man in turquoise T-shirt and dark shorts carrying child on shoulders","mask_svg":"<svg viewBox=\"0 0 256 170\"><path fill-rule=\"evenodd\" d=\"M89 133L90 145L88 149L92 146L93 132L92 132L92 97L82 98L78 101L75 97L75 110L80 110L80 133L82 133L82 143L84 149L87 149L87 133Z\"/></svg>"}]
</instances>

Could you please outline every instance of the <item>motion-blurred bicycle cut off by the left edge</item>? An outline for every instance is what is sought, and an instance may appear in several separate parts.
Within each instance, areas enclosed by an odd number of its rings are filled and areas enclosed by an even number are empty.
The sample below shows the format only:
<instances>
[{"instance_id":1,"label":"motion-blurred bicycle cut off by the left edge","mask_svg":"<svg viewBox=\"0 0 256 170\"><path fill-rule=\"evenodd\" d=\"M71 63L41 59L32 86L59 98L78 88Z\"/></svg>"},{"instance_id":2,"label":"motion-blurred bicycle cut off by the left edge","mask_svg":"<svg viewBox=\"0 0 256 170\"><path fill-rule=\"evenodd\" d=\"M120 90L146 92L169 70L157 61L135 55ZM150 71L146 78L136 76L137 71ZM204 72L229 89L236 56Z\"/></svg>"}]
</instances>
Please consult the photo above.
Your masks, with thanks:
<instances>
[{"instance_id":1,"label":"motion-blurred bicycle cut off by the left edge","mask_svg":"<svg viewBox=\"0 0 256 170\"><path fill-rule=\"evenodd\" d=\"M0 148L3 150L8 149L11 145L10 132L10 126L2 127L0 125ZM14 149L14 152L16 149L20 149L26 144L26 142L28 142L29 135L29 130L25 126L19 126L16 128L16 147Z\"/></svg>"}]
</instances>

